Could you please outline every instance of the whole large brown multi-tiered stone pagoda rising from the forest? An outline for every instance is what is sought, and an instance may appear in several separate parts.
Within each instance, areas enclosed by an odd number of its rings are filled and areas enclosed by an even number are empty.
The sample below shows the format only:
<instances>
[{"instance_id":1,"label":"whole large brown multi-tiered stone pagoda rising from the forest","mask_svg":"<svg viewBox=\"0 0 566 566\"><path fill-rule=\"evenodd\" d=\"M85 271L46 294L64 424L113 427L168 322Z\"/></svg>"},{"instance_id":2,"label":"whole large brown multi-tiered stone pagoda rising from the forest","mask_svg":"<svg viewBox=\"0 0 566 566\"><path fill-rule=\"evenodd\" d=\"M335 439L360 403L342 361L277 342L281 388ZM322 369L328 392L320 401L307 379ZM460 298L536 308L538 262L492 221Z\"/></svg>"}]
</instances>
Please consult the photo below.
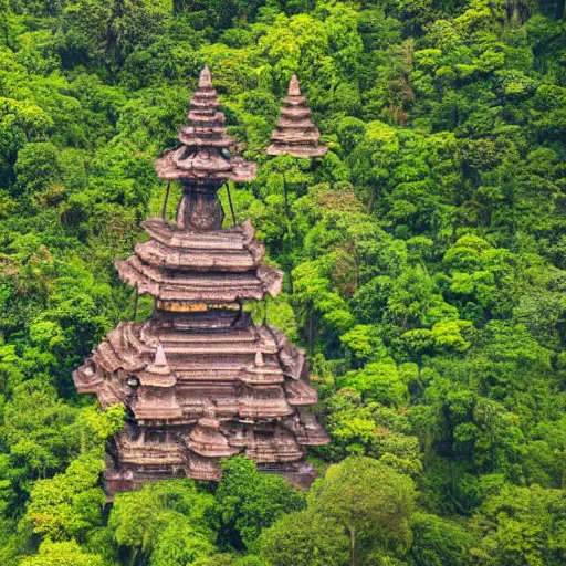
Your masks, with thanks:
<instances>
[{"instance_id":1,"label":"whole large brown multi-tiered stone pagoda rising from the forest","mask_svg":"<svg viewBox=\"0 0 566 566\"><path fill-rule=\"evenodd\" d=\"M80 394L127 410L107 447L106 490L220 480L220 460L234 454L308 485L306 447L328 437L307 409L317 396L304 352L242 308L280 293L283 273L264 263L250 221L222 228L218 190L253 179L255 165L232 155L208 67L179 140L156 163L160 178L182 185L176 222L146 220L148 241L116 263L124 282L154 297L154 313L120 323L73 374Z\"/></svg>"}]
</instances>

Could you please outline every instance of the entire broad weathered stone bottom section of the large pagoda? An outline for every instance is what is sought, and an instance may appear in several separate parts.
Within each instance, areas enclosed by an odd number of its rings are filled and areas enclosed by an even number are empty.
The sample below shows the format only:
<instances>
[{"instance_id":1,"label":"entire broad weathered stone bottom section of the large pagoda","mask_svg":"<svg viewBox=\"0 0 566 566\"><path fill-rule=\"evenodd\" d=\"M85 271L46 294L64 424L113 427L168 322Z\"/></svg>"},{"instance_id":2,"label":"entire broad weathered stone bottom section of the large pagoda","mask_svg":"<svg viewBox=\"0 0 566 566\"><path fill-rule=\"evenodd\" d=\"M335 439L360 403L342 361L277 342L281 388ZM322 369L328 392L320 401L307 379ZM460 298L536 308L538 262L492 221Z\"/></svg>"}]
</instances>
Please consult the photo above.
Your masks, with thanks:
<instances>
[{"instance_id":1,"label":"entire broad weathered stone bottom section of the large pagoda","mask_svg":"<svg viewBox=\"0 0 566 566\"><path fill-rule=\"evenodd\" d=\"M213 331L195 324L210 316L164 313L122 323L74 373L80 392L133 411L137 436L120 437L114 471L145 476L154 460L168 461L161 444L147 441L148 431L165 431L175 444L167 458L182 457L188 476L207 480L219 478L219 458L241 452L263 464L298 463L302 447L328 441L316 420L294 408L317 400L308 373L297 377L304 353L277 339L277 331L254 326L248 314L233 326L222 315L224 324Z\"/></svg>"}]
</instances>

